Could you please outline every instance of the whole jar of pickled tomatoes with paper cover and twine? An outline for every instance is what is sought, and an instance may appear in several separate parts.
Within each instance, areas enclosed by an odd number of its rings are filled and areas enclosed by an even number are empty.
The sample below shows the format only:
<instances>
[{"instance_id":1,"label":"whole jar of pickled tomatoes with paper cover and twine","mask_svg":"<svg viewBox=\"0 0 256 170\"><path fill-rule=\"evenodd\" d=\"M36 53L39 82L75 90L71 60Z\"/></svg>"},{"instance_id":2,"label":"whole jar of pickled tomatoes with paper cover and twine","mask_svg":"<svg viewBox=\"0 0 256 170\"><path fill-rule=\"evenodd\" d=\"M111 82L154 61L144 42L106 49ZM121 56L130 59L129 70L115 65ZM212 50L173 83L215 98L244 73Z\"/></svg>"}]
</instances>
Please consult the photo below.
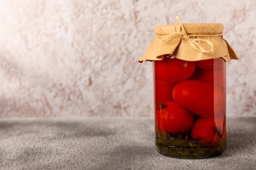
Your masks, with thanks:
<instances>
[{"instance_id":1,"label":"whole jar of pickled tomatoes with paper cover and twine","mask_svg":"<svg viewBox=\"0 0 256 170\"><path fill-rule=\"evenodd\" d=\"M226 63L238 59L221 23L155 28L139 62L153 63L155 147L166 156L199 159L226 148Z\"/></svg>"}]
</instances>

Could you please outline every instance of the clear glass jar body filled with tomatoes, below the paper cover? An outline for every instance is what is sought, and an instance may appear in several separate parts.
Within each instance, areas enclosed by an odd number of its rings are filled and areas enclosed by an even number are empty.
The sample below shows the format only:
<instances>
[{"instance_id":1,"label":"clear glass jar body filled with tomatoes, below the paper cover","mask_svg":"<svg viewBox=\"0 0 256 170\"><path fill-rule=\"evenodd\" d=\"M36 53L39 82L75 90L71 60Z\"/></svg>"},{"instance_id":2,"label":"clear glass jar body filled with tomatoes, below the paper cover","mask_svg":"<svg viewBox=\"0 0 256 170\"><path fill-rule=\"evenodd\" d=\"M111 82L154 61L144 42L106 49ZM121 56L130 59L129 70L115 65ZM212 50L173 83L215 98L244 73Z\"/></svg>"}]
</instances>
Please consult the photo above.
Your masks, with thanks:
<instances>
[{"instance_id":1,"label":"clear glass jar body filled with tomatoes, below the paper cover","mask_svg":"<svg viewBox=\"0 0 256 170\"><path fill-rule=\"evenodd\" d=\"M153 61L155 146L178 158L207 158L226 148L226 62Z\"/></svg>"}]
</instances>

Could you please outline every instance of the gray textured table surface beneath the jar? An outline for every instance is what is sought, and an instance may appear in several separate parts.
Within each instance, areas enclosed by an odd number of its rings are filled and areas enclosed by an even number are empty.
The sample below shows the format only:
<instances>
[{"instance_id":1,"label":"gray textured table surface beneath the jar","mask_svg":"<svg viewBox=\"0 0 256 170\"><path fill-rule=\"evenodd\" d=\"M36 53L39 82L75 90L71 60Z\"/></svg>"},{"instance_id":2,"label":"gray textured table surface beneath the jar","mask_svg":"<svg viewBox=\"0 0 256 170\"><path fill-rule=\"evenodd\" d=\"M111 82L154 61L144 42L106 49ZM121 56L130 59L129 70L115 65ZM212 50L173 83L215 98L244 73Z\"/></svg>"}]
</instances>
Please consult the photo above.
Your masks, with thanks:
<instances>
[{"instance_id":1,"label":"gray textured table surface beneath the jar","mask_svg":"<svg viewBox=\"0 0 256 170\"><path fill-rule=\"evenodd\" d=\"M228 119L228 148L173 159L154 148L152 119L0 120L1 170L256 170L256 118Z\"/></svg>"}]
</instances>

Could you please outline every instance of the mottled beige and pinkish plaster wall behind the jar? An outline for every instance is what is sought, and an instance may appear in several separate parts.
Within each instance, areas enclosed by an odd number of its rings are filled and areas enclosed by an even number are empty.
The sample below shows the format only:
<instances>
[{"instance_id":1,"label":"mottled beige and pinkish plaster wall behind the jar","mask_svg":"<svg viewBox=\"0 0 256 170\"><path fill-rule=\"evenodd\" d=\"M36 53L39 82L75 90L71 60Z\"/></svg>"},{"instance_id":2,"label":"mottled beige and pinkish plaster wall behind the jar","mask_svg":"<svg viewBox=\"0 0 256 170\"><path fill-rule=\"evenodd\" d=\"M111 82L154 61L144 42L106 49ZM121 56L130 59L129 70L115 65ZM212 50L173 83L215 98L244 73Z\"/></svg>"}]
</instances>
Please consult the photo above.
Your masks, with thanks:
<instances>
[{"instance_id":1,"label":"mottled beige and pinkish plaster wall behind the jar","mask_svg":"<svg viewBox=\"0 0 256 170\"><path fill-rule=\"evenodd\" d=\"M153 116L154 27L224 23L227 116L256 116L256 0L0 0L0 116Z\"/></svg>"}]
</instances>

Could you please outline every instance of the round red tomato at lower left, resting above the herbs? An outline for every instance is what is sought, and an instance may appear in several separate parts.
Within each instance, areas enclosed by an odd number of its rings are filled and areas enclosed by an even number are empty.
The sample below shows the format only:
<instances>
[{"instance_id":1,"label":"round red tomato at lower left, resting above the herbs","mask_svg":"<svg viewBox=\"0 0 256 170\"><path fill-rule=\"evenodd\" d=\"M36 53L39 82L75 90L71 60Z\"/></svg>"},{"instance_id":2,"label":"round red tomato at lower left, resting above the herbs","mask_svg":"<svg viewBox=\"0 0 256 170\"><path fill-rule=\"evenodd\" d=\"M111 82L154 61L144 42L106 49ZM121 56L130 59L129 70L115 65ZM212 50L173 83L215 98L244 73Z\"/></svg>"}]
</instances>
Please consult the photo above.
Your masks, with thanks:
<instances>
[{"instance_id":1,"label":"round red tomato at lower left, resting above the herbs","mask_svg":"<svg viewBox=\"0 0 256 170\"><path fill-rule=\"evenodd\" d=\"M193 115L176 102L164 103L167 107L156 109L156 121L160 131L172 134L183 134L193 125Z\"/></svg>"}]
</instances>

